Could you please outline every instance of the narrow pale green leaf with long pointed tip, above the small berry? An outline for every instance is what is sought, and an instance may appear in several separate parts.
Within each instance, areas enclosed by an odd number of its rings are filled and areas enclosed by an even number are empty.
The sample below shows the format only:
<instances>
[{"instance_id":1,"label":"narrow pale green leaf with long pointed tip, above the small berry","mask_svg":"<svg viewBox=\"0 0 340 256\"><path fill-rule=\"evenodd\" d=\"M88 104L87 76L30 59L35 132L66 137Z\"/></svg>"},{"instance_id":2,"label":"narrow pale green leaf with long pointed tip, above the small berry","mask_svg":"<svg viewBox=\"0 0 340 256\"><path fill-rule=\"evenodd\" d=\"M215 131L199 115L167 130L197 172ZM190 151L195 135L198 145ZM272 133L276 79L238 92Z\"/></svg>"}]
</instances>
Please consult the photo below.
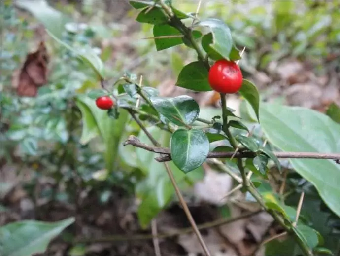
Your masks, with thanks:
<instances>
[{"instance_id":1,"label":"narrow pale green leaf with long pointed tip, above the small berry","mask_svg":"<svg viewBox=\"0 0 340 256\"><path fill-rule=\"evenodd\" d=\"M96 72L96 74L99 76L100 79L104 79L104 65L102 63L102 60L97 56L97 54L93 51L93 49L89 46L86 46L82 49L74 49L71 46L69 46L67 43L61 41L56 36L53 35L52 32L47 31L47 34L49 34L52 38L54 38L57 42L59 42L61 45L66 47L68 50L73 51L75 54L77 54L77 57L81 59L83 62L87 63L93 70Z\"/></svg>"}]
</instances>

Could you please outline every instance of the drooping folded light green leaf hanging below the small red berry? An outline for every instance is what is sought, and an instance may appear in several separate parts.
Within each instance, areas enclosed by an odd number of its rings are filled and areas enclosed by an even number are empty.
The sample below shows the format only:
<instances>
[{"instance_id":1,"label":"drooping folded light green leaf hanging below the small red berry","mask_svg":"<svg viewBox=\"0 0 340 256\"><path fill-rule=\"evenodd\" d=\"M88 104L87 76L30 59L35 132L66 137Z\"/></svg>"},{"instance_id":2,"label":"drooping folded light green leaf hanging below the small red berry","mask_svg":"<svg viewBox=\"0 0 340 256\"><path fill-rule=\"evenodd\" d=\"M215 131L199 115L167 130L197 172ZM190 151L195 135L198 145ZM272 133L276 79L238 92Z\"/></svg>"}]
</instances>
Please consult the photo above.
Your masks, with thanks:
<instances>
[{"instance_id":1,"label":"drooping folded light green leaf hanging below the small red berry","mask_svg":"<svg viewBox=\"0 0 340 256\"><path fill-rule=\"evenodd\" d=\"M85 128L91 128L92 132L91 136L85 136L82 137L82 139L84 140L85 138L89 140L89 138L94 138L96 133L99 133L105 145L104 159L106 169L108 173L111 173L113 171L113 165L116 162L116 157L118 157L118 143L125 129L128 112L126 110L120 110L119 118L115 120L107 116L107 111L98 109L94 100L84 95L78 95L76 102L78 107L82 106L80 108L80 110L83 110L82 114L86 113L82 116L83 120L85 118L85 122L83 123L87 124ZM92 117L90 117L91 115ZM98 130L94 127L94 123L96 123ZM91 126L89 124L91 124ZM84 126L82 134L86 134Z\"/></svg>"}]
</instances>

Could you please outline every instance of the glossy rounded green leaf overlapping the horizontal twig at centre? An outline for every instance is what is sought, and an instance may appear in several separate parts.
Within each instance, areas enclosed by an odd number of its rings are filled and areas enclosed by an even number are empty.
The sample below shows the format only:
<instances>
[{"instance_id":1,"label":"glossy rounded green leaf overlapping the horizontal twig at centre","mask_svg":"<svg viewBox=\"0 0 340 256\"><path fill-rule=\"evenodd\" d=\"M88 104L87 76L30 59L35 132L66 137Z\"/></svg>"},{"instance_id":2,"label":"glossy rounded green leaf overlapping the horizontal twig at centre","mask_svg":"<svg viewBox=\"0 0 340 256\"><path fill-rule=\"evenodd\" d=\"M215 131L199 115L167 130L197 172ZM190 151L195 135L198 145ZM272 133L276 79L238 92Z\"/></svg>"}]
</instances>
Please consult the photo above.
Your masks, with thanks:
<instances>
[{"instance_id":1,"label":"glossy rounded green leaf overlapping the horizontal twig at centre","mask_svg":"<svg viewBox=\"0 0 340 256\"><path fill-rule=\"evenodd\" d=\"M205 161L209 153L209 140L202 130L178 129L171 136L170 150L175 165L188 173Z\"/></svg>"}]
</instances>

